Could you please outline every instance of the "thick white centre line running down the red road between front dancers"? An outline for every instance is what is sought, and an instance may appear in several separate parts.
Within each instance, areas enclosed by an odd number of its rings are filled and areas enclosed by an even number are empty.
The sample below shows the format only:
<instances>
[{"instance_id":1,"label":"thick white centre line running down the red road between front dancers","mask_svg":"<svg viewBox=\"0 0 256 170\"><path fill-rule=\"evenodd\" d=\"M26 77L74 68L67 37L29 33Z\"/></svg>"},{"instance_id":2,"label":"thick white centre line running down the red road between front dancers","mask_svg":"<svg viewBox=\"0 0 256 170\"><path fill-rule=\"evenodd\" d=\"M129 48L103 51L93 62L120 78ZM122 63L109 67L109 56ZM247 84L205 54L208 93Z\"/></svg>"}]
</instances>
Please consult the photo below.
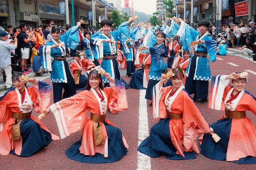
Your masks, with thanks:
<instances>
[{"instance_id":1,"label":"thick white centre line running down the red road between front dancers","mask_svg":"<svg viewBox=\"0 0 256 170\"><path fill-rule=\"evenodd\" d=\"M148 137L148 111L147 111L147 100L145 99L146 90L140 90L140 106L139 106L139 141L138 146L140 143ZM138 165L137 170L150 170L151 169L151 162L150 157L140 153L138 151Z\"/></svg>"}]
</instances>

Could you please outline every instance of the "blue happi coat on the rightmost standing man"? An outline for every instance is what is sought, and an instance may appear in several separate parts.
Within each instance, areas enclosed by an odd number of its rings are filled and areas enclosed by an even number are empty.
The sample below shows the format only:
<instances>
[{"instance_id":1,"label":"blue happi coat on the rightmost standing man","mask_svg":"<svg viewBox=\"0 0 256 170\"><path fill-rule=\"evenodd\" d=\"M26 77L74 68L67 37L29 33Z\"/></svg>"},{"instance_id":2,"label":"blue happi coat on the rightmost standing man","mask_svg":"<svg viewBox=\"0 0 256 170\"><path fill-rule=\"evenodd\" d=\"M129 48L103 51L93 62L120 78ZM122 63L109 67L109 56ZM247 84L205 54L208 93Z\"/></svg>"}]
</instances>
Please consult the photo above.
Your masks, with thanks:
<instances>
[{"instance_id":1,"label":"blue happi coat on the rightmost standing man","mask_svg":"<svg viewBox=\"0 0 256 170\"><path fill-rule=\"evenodd\" d=\"M209 58L212 62L216 60L216 48L217 41L208 35L206 32L204 35L200 36L200 32L193 29L191 26L186 24L184 21L181 22L180 29L177 32L177 35L181 37L181 41L183 44L183 50L188 49L191 41L196 41L197 39L204 40L205 43L196 44L193 46L194 52L204 52L209 55ZM196 57L196 56L193 56ZM191 63L191 60L190 60ZM195 75L189 75L190 63L188 65L186 75L187 77L193 76L193 80L203 80L209 81L211 80L211 70L210 63L207 58L196 57L196 70Z\"/></svg>"}]
</instances>

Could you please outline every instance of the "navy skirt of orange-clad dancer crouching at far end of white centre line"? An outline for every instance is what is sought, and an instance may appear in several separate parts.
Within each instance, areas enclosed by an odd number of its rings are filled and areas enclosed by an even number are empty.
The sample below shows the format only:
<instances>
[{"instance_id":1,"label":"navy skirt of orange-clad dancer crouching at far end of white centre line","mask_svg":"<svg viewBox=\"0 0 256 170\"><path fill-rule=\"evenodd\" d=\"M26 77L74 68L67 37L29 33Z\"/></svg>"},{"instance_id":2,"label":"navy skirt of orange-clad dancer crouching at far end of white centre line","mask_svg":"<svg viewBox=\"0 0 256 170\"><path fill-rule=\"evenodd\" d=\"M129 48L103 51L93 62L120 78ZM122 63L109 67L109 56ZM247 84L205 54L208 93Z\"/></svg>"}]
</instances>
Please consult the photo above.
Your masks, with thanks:
<instances>
[{"instance_id":1,"label":"navy skirt of orange-clad dancer crouching at far end of white centre line","mask_svg":"<svg viewBox=\"0 0 256 170\"><path fill-rule=\"evenodd\" d=\"M132 78L129 82L129 86L133 89L143 90L143 75L144 69L141 68L132 74Z\"/></svg>"}]
</instances>

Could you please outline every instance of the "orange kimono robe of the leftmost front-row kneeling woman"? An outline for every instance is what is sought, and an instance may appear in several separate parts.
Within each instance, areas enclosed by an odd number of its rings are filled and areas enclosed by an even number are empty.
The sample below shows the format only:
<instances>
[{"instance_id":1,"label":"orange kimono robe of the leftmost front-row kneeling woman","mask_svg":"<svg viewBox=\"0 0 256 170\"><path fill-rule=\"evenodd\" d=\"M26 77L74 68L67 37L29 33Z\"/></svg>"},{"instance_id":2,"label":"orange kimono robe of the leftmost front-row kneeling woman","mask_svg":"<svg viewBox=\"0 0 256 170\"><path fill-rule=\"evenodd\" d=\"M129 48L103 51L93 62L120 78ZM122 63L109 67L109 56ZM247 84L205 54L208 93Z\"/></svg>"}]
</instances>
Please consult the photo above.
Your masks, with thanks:
<instances>
[{"instance_id":1,"label":"orange kimono robe of the leftmost front-row kneeling woman","mask_svg":"<svg viewBox=\"0 0 256 170\"><path fill-rule=\"evenodd\" d=\"M22 149L22 140L12 140L12 125L14 119L12 118L12 112L25 113L30 112L36 108L36 112L43 112L49 107L51 102L51 86L48 83L39 81L38 84L34 84L34 87L25 87L24 102L21 103L21 94L18 89L8 91L0 98L0 155L9 155L10 152L15 149L15 153L20 155ZM41 128L50 132L44 124L42 124L37 117L30 117ZM60 139L58 136L51 133L52 139Z\"/></svg>"}]
</instances>

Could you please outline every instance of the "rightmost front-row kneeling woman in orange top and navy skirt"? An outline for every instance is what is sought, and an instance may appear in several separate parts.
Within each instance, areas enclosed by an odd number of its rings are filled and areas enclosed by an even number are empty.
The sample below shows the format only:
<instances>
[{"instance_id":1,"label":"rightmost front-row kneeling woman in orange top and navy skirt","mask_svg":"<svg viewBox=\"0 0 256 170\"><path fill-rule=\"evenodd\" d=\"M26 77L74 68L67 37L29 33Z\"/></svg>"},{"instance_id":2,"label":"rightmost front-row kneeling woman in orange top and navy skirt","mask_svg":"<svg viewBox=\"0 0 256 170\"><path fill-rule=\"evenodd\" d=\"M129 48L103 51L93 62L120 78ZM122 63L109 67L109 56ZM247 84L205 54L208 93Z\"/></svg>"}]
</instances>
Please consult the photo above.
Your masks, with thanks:
<instances>
[{"instance_id":1,"label":"rightmost front-row kneeling woman in orange top and navy skirt","mask_svg":"<svg viewBox=\"0 0 256 170\"><path fill-rule=\"evenodd\" d=\"M209 108L225 110L225 115L210 125L220 141L215 143L204 134L201 154L215 160L253 164L256 163L256 129L245 112L256 114L256 99L244 90L247 80L239 74L212 77ZM228 84L230 80L232 86Z\"/></svg>"}]
</instances>

